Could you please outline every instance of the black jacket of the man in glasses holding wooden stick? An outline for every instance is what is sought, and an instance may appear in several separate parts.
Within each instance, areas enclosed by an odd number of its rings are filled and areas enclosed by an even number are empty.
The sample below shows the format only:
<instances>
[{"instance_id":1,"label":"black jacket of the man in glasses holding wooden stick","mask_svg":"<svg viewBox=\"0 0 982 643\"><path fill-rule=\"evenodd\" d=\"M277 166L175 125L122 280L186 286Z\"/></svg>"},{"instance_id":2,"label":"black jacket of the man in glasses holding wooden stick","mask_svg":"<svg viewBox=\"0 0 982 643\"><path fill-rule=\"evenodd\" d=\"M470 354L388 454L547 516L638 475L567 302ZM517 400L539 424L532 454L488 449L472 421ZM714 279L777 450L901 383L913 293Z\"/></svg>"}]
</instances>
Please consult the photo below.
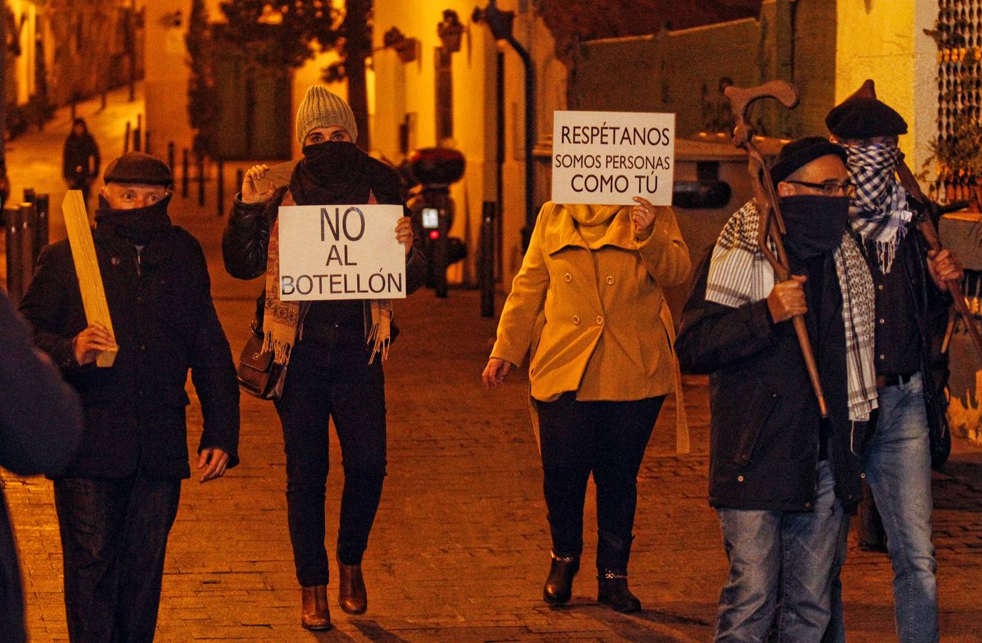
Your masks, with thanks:
<instances>
[{"instance_id":1,"label":"black jacket of the man in glasses holding wooden stick","mask_svg":"<svg viewBox=\"0 0 982 643\"><path fill-rule=\"evenodd\" d=\"M731 308L706 301L710 255L682 310L676 350L682 370L710 375L709 502L731 509L810 510L819 455L818 402L791 322L774 324L767 301ZM818 338L819 375L832 427L836 495L851 511L860 497L867 425L848 419L842 293L825 262Z\"/></svg>"}]
</instances>

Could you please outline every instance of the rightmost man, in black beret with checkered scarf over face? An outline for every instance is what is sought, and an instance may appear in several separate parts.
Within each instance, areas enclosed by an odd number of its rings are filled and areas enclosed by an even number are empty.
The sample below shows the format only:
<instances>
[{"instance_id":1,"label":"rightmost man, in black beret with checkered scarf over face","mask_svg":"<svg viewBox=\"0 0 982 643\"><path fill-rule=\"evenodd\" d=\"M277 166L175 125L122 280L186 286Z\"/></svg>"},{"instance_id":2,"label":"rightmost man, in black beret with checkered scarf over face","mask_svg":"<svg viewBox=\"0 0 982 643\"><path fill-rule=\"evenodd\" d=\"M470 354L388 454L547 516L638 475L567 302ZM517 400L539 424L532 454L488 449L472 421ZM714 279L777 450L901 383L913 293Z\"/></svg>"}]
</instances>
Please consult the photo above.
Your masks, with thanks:
<instances>
[{"instance_id":1,"label":"rightmost man, in black beret with checkered scarf over face","mask_svg":"<svg viewBox=\"0 0 982 643\"><path fill-rule=\"evenodd\" d=\"M929 432L944 430L944 409L931 378L930 338L947 319L945 282L961 279L961 266L948 250L929 251L914 226L928 204L897 177L907 125L875 97L872 82L829 112L826 125L848 155L856 186L849 222L876 285L879 411L863 471L894 567L897 632L904 643L937 641Z\"/></svg>"}]
</instances>

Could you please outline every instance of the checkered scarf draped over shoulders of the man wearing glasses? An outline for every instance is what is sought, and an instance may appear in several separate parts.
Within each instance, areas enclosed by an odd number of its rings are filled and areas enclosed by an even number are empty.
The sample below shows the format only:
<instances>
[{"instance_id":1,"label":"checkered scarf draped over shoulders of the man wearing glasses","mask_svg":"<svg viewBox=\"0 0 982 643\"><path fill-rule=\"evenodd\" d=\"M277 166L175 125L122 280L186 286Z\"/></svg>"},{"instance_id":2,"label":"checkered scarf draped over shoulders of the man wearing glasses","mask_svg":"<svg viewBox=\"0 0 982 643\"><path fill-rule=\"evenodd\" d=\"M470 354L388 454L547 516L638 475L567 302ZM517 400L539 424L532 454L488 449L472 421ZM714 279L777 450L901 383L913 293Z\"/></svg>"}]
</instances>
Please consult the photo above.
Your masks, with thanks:
<instances>
[{"instance_id":1,"label":"checkered scarf draped over shoulders of the man wearing glasses","mask_svg":"<svg viewBox=\"0 0 982 643\"><path fill-rule=\"evenodd\" d=\"M774 269L757 246L759 226L755 199L740 208L724 226L709 262L707 301L736 308L771 294ZM849 419L866 421L870 411L876 408L873 278L862 251L847 232L834 258L843 293Z\"/></svg>"}]
</instances>

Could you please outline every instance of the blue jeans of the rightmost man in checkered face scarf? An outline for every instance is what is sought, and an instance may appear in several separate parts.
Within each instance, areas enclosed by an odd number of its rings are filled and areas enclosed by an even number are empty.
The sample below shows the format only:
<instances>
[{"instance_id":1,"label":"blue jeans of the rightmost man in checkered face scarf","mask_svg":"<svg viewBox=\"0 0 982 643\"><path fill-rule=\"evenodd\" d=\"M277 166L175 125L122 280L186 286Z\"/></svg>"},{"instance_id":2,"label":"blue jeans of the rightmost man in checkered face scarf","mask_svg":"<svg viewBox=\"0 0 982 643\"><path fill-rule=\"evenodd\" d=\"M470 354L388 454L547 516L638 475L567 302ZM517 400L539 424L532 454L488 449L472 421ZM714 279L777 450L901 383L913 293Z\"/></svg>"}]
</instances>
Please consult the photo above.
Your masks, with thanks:
<instances>
[{"instance_id":1,"label":"blue jeans of the rightmost man in checkered face scarf","mask_svg":"<svg viewBox=\"0 0 982 643\"><path fill-rule=\"evenodd\" d=\"M880 389L879 406L863 470L883 518L894 565L897 635L901 643L937 641L931 447L920 373L906 384Z\"/></svg>"}]
</instances>

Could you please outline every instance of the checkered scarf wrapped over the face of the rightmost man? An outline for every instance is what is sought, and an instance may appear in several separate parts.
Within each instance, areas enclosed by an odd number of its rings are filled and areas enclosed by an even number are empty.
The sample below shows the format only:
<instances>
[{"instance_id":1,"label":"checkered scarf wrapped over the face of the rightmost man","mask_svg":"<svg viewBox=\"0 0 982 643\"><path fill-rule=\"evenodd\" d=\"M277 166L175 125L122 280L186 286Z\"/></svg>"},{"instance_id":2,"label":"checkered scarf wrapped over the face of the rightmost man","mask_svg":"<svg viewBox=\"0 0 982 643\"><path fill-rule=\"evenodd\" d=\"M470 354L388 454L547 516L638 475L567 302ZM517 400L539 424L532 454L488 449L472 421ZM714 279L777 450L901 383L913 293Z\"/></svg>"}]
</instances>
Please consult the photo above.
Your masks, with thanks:
<instances>
[{"instance_id":1,"label":"checkered scarf wrapped over the face of the rightmost man","mask_svg":"<svg viewBox=\"0 0 982 643\"><path fill-rule=\"evenodd\" d=\"M852 229L863 241L876 244L876 258L883 274L890 272L897 246L906 235L913 214L907 209L907 193L897 180L900 148L892 143L847 146L849 173L856 193L849 205Z\"/></svg>"}]
</instances>

